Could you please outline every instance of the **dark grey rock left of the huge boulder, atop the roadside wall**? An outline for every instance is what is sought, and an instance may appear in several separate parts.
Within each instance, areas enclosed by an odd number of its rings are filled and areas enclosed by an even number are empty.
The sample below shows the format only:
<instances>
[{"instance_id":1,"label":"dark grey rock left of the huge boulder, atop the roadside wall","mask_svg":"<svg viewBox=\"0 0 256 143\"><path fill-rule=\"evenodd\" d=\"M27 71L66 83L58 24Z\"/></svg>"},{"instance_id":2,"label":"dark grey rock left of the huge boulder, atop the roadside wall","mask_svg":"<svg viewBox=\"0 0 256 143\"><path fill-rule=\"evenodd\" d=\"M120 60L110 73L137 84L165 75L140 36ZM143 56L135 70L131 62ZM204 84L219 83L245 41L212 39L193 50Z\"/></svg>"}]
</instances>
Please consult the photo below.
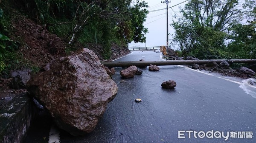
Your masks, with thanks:
<instances>
[{"instance_id":1,"label":"dark grey rock left of the huge boulder, atop the roadside wall","mask_svg":"<svg viewBox=\"0 0 256 143\"><path fill-rule=\"evenodd\" d=\"M30 70L28 68L22 68L20 70L11 71L12 81L10 87L13 89L26 88L26 84L30 79Z\"/></svg>"}]
</instances>

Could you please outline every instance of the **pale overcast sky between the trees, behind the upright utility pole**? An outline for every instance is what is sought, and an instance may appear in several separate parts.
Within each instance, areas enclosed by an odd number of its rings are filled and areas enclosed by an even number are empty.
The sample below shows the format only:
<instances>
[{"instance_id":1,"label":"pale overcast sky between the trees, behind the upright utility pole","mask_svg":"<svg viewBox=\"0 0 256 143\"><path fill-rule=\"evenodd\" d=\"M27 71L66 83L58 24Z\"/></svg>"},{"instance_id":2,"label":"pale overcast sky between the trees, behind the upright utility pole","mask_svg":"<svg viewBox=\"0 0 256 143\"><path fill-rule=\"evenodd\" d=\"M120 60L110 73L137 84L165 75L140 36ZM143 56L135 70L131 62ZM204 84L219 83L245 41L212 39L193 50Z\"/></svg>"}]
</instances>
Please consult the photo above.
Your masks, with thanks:
<instances>
[{"instance_id":1,"label":"pale overcast sky between the trees, behind the upright utility pole","mask_svg":"<svg viewBox=\"0 0 256 143\"><path fill-rule=\"evenodd\" d=\"M148 11L154 11L157 9L162 9L166 8L166 3L161 3L163 0L145 0L145 2L148 3L149 8ZM171 1L171 0L169 0ZM178 3L181 3L185 0L172 0L169 3L169 7L175 6ZM188 3L182 3L178 6L173 7L172 9L180 15L179 12L179 7L181 6L182 8L184 5ZM168 14L169 14L169 34L174 34L174 30L172 29L172 26L170 24L172 23L172 15L175 14L172 11L171 8L168 9ZM166 45L166 9L160 10L160 11L155 11L155 12L149 12L146 21L144 22L144 26L148 28L148 33L146 34L146 43L137 43L135 44L132 42L129 44L129 47L151 47L151 46L161 46L161 45ZM172 36L169 35L169 39L172 39ZM170 43L170 41L169 41Z\"/></svg>"}]
</instances>

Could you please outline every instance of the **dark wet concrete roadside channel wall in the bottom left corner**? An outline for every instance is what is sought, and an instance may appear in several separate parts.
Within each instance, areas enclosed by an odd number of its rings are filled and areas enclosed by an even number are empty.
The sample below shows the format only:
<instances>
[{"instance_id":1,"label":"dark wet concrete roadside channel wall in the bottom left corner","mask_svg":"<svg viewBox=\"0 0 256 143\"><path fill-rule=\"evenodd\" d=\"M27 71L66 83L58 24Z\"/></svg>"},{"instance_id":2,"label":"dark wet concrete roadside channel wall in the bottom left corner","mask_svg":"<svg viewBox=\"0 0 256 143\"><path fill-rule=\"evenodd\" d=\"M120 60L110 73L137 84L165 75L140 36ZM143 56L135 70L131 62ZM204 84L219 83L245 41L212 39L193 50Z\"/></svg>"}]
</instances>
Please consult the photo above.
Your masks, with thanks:
<instances>
[{"instance_id":1,"label":"dark wet concrete roadside channel wall in the bottom left corner","mask_svg":"<svg viewBox=\"0 0 256 143\"><path fill-rule=\"evenodd\" d=\"M16 95L0 109L0 143L22 143L35 112L27 93Z\"/></svg>"}]
</instances>

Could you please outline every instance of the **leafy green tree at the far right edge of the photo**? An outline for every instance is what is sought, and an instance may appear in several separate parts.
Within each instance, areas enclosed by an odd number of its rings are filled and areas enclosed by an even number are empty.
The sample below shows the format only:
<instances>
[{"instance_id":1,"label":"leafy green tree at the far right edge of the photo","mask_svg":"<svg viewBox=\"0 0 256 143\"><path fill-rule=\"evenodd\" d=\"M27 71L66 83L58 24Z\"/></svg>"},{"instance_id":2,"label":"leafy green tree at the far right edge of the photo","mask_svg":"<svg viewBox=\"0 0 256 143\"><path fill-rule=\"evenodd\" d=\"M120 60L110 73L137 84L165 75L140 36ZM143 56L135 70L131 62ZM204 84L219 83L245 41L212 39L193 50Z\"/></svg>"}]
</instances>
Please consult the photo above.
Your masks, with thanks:
<instances>
[{"instance_id":1,"label":"leafy green tree at the far right edge of the photo","mask_svg":"<svg viewBox=\"0 0 256 143\"><path fill-rule=\"evenodd\" d=\"M247 19L245 24L234 24L229 28L231 42L228 44L227 51L230 56L238 59L256 58L256 1L245 0L244 17Z\"/></svg>"}]
</instances>

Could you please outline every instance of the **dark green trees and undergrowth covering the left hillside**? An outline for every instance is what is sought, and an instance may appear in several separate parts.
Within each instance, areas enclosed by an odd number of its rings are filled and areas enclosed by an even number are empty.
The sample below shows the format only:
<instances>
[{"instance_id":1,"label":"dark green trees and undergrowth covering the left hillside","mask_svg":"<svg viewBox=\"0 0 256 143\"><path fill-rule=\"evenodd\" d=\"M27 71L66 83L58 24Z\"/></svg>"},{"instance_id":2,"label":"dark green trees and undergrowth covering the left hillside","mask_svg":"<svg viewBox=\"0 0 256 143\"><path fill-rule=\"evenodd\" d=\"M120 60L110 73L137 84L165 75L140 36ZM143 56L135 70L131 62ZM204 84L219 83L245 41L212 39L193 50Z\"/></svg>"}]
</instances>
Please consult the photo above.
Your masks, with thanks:
<instances>
[{"instance_id":1,"label":"dark green trees and undergrowth covering the left hillside","mask_svg":"<svg viewBox=\"0 0 256 143\"><path fill-rule=\"evenodd\" d=\"M147 7L143 0L0 0L0 72L20 62L29 65L26 59L17 58L19 46L26 45L12 31L12 20L18 14L60 37L66 53L99 44L104 59L109 59L112 44L145 42Z\"/></svg>"}]
</instances>

